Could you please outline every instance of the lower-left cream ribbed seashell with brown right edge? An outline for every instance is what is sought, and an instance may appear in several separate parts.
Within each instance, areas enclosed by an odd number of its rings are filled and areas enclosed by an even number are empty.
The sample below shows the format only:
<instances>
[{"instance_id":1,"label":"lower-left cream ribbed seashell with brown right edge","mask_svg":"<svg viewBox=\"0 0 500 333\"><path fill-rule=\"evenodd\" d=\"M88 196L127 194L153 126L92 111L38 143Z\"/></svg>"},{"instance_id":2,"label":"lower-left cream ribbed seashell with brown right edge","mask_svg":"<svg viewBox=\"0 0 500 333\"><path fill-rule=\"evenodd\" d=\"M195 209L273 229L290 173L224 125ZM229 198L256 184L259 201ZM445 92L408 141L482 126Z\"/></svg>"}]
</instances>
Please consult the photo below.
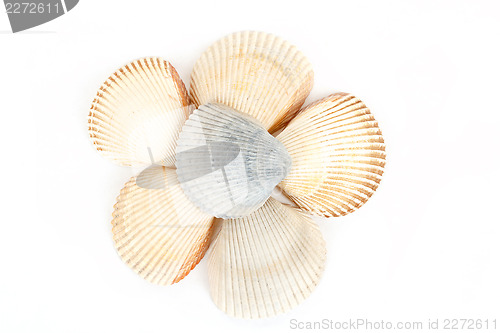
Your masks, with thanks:
<instances>
[{"instance_id":1,"label":"lower-left cream ribbed seashell with brown right edge","mask_svg":"<svg viewBox=\"0 0 500 333\"><path fill-rule=\"evenodd\" d=\"M118 196L111 222L116 249L144 279L176 283L205 255L214 219L186 198L173 169L148 168L141 186L132 178Z\"/></svg>"}]
</instances>

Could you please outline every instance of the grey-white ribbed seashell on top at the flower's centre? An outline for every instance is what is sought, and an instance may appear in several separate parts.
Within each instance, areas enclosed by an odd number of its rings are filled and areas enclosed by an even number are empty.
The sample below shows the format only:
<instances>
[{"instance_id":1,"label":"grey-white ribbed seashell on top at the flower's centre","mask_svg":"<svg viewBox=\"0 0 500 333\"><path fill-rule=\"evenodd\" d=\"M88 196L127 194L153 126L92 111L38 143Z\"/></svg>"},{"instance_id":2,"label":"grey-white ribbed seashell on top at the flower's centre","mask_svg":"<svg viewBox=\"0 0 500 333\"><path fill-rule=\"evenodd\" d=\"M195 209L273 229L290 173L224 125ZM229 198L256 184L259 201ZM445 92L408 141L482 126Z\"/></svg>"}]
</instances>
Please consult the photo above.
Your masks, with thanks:
<instances>
[{"instance_id":1,"label":"grey-white ribbed seashell on top at the flower's centre","mask_svg":"<svg viewBox=\"0 0 500 333\"><path fill-rule=\"evenodd\" d=\"M255 119L222 104L204 104L179 135L176 171L186 196L216 217L239 217L264 204L291 158Z\"/></svg>"}]
</instances>

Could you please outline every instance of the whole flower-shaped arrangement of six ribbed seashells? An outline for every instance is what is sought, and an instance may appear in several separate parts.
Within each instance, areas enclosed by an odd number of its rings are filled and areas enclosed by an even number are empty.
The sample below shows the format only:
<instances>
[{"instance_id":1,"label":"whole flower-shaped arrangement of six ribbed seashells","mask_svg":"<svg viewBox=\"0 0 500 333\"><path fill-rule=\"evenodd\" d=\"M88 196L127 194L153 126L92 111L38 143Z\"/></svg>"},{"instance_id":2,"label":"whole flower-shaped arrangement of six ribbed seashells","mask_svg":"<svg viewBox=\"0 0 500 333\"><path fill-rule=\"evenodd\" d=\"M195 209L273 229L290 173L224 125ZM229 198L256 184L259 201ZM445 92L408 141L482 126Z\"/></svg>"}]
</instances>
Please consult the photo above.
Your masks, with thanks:
<instances>
[{"instance_id":1,"label":"whole flower-shaped arrangement of six ribbed seashells","mask_svg":"<svg viewBox=\"0 0 500 333\"><path fill-rule=\"evenodd\" d=\"M173 284L211 246L210 294L235 317L273 316L308 297L326 259L311 216L359 208L385 164L384 140L365 104L336 93L302 108L312 85L304 55L261 32L210 46L189 93L160 58L113 73L88 123L103 156L145 168L114 206L123 261L152 283ZM275 189L292 204L275 199Z\"/></svg>"}]
</instances>

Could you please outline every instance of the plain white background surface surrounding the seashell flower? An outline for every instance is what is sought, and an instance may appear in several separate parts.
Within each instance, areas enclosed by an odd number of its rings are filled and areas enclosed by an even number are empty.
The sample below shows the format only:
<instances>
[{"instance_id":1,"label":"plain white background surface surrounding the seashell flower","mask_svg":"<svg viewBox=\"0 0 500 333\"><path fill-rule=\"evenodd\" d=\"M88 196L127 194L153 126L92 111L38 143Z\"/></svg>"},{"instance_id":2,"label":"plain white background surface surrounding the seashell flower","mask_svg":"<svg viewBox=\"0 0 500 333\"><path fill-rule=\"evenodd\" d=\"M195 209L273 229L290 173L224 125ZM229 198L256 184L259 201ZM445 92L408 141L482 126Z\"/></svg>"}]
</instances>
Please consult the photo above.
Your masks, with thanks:
<instances>
[{"instance_id":1,"label":"plain white background surface surrounding the seashell flower","mask_svg":"<svg viewBox=\"0 0 500 333\"><path fill-rule=\"evenodd\" d=\"M238 30L297 45L306 103L337 91L387 142L377 193L324 220L326 271L284 315L226 316L206 261L159 287L116 254L110 216L136 170L98 155L86 116L100 84L143 56L189 84L201 52ZM97 1L25 33L0 13L2 332L288 331L290 320L500 320L498 1ZM500 325L500 322L497 323Z\"/></svg>"}]
</instances>

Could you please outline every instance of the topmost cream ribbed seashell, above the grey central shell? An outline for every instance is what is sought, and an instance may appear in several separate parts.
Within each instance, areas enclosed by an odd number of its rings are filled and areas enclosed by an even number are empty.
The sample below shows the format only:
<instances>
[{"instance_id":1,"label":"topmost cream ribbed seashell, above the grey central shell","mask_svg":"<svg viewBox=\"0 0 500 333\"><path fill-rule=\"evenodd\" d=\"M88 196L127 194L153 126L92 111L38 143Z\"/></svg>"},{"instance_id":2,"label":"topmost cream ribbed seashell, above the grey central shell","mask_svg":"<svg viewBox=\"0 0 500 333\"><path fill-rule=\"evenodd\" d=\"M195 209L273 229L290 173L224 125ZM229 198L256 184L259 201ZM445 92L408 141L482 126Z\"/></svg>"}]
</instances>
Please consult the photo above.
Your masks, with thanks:
<instances>
[{"instance_id":1,"label":"topmost cream ribbed seashell, above the grey central shell","mask_svg":"<svg viewBox=\"0 0 500 333\"><path fill-rule=\"evenodd\" d=\"M256 118L273 133L299 111L313 71L295 46L263 32L237 32L210 46L191 75L196 107L222 103Z\"/></svg>"}]
</instances>

